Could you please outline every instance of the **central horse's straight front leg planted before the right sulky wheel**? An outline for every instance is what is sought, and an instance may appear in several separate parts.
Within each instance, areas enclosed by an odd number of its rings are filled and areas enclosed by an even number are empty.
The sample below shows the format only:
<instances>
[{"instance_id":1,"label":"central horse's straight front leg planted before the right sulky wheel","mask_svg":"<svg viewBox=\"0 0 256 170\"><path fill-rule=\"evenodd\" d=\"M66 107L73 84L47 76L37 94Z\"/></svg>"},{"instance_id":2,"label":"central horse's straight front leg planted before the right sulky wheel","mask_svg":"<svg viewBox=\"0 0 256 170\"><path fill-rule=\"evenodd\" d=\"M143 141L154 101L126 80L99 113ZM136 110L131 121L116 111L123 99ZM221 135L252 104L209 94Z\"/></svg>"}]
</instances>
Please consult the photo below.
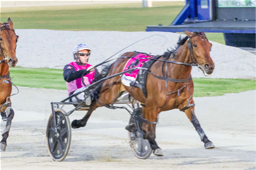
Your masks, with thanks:
<instances>
[{"instance_id":1,"label":"central horse's straight front leg planted before the right sulky wheel","mask_svg":"<svg viewBox=\"0 0 256 170\"><path fill-rule=\"evenodd\" d=\"M156 109L143 107L143 118L147 119L149 122L157 121L158 112ZM156 123L143 123L142 129L145 132L144 139L148 139L150 146L153 150L153 154L156 156L163 156L162 149L157 145L156 142Z\"/></svg>"}]
</instances>

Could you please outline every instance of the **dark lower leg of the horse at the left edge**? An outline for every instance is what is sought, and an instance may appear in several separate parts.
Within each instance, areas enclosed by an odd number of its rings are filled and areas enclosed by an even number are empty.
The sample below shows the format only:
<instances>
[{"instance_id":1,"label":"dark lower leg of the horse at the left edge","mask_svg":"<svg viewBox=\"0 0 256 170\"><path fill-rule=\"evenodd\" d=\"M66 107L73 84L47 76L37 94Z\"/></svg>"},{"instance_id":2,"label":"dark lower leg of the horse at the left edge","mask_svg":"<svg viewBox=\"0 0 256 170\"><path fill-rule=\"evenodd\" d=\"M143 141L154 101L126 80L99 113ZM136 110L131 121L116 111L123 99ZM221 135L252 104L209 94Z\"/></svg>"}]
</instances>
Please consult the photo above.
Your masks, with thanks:
<instances>
[{"instance_id":1,"label":"dark lower leg of the horse at the left edge","mask_svg":"<svg viewBox=\"0 0 256 170\"><path fill-rule=\"evenodd\" d=\"M7 122L6 122L5 129L2 133L3 139L0 142L0 149L2 151L5 151L5 149L6 149L6 146L7 146L6 139L9 136L9 131L11 129L11 124L12 124L12 119L14 117L14 111L11 107L7 107L5 112L6 112L6 116L7 116Z\"/></svg>"}]
</instances>

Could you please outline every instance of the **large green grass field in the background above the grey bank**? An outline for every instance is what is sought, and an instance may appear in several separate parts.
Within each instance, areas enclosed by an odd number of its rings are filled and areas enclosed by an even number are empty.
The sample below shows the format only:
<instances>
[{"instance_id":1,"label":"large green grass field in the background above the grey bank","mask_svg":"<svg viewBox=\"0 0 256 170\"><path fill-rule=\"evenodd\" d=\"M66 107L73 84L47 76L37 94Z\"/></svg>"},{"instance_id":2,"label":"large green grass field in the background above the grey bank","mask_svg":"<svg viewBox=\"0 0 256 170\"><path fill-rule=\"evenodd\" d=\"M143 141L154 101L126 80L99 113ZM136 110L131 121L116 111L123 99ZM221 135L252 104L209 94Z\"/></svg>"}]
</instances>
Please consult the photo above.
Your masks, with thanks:
<instances>
[{"instance_id":1,"label":"large green grass field in the background above the grey bank","mask_svg":"<svg viewBox=\"0 0 256 170\"><path fill-rule=\"evenodd\" d=\"M149 25L170 25L182 4L158 2L153 3L158 7L152 8L142 8L141 3L3 8L0 22L11 17L15 29L145 31ZM222 33L206 36L225 44Z\"/></svg>"}]
</instances>

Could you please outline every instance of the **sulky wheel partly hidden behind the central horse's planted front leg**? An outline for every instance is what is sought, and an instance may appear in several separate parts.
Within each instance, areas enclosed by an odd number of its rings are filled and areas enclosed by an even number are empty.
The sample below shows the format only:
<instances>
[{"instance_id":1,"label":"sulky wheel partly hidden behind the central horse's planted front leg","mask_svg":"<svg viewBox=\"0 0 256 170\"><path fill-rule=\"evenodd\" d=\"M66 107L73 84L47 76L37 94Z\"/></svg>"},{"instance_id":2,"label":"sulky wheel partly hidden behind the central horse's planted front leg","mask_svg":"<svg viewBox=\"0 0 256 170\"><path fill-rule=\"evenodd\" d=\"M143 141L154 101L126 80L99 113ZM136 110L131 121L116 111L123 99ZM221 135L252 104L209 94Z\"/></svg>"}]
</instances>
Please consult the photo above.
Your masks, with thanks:
<instances>
[{"instance_id":1,"label":"sulky wheel partly hidden behind the central horse's planted front leg","mask_svg":"<svg viewBox=\"0 0 256 170\"><path fill-rule=\"evenodd\" d=\"M142 108L135 109L134 114L142 117ZM144 132L141 130L141 123L133 117L130 118L129 124L131 123L136 123L137 130L135 132L128 132L130 147L137 158L147 159L152 153L150 143L147 139L143 138Z\"/></svg>"}]
</instances>

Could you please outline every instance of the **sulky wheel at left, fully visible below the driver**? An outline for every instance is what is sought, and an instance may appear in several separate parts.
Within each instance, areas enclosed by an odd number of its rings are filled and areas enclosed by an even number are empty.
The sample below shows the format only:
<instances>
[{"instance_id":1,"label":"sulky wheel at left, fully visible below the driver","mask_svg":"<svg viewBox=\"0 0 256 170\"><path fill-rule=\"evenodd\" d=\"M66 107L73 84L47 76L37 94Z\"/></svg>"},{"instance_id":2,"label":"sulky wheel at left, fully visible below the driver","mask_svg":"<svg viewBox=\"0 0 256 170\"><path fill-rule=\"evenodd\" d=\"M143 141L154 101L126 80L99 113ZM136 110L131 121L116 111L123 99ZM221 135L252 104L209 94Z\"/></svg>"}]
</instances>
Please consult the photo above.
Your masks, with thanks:
<instances>
[{"instance_id":1,"label":"sulky wheel at left, fully visible below the driver","mask_svg":"<svg viewBox=\"0 0 256 170\"><path fill-rule=\"evenodd\" d=\"M57 109L55 111L55 119L53 114L51 114L47 125L46 139L48 151L53 160L64 160L71 143L70 122L68 116L65 116L65 111Z\"/></svg>"}]
</instances>

